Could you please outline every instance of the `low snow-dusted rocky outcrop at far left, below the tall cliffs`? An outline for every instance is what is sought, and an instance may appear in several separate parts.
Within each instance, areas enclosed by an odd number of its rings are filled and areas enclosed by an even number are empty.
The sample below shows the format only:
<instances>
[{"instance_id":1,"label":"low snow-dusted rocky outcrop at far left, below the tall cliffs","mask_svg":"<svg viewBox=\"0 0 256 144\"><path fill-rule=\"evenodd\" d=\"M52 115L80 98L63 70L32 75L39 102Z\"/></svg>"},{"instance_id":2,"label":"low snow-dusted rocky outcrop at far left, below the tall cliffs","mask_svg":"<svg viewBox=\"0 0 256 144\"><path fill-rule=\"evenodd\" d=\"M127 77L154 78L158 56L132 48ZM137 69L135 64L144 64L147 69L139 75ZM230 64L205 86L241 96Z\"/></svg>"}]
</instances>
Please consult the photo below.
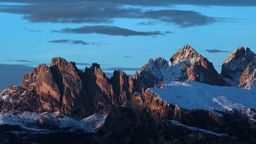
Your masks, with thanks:
<instances>
[{"instance_id":1,"label":"low snow-dusted rocky outcrop at far left, below the tall cliffs","mask_svg":"<svg viewBox=\"0 0 256 144\"><path fill-rule=\"evenodd\" d=\"M0 95L0 101L2 102L0 111L54 112L61 110L61 105L52 96L47 94L34 94L33 90L21 88L12 84L2 91Z\"/></svg>"}]
</instances>

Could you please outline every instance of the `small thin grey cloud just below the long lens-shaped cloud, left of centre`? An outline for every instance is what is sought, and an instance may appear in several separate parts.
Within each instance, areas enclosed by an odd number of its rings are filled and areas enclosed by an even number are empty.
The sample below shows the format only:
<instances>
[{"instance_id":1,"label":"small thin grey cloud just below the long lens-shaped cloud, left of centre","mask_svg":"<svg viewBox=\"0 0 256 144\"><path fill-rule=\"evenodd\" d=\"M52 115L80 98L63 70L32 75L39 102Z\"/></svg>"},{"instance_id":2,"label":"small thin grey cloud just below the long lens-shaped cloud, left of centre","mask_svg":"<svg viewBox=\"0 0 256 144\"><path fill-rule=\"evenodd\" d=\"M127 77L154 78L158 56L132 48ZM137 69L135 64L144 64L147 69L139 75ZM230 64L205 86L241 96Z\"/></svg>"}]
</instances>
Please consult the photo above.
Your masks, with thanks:
<instances>
[{"instance_id":1,"label":"small thin grey cloud just below the long lens-shaped cloud, left of centre","mask_svg":"<svg viewBox=\"0 0 256 144\"><path fill-rule=\"evenodd\" d=\"M107 45L108 43L106 42L84 42L82 40L51 40L48 41L50 43L58 43L58 44L82 44L82 45Z\"/></svg>"}]
</instances>

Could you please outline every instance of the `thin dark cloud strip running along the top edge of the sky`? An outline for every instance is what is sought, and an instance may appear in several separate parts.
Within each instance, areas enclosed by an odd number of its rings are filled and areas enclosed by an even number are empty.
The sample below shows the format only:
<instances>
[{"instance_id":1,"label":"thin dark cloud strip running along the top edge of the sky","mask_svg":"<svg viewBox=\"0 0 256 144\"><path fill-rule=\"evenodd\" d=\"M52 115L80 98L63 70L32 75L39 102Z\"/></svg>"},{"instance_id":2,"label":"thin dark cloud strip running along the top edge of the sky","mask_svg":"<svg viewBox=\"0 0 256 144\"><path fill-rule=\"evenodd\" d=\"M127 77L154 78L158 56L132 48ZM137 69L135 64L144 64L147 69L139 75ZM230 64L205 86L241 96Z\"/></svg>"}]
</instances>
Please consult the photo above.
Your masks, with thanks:
<instances>
[{"instance_id":1,"label":"thin dark cloud strip running along the top edge of the sky","mask_svg":"<svg viewBox=\"0 0 256 144\"><path fill-rule=\"evenodd\" d=\"M0 0L0 2L16 3L71 3L83 2L84 0ZM176 4L196 5L196 6L256 6L255 0L86 0L91 2L109 2L116 4L136 5L136 6L170 6Z\"/></svg>"}]
</instances>

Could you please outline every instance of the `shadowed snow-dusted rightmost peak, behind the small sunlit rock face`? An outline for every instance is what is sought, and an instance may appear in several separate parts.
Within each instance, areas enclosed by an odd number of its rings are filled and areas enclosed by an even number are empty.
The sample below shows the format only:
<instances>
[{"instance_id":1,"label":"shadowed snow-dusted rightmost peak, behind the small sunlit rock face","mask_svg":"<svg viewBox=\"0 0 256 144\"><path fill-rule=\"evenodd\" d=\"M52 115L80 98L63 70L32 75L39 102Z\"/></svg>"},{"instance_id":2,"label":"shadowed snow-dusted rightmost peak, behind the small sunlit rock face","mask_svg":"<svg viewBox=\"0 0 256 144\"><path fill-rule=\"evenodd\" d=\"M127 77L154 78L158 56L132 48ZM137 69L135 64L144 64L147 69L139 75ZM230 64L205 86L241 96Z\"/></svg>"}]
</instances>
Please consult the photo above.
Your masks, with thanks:
<instances>
[{"instance_id":1,"label":"shadowed snow-dusted rightmost peak, behind the small sunlit rock face","mask_svg":"<svg viewBox=\"0 0 256 144\"><path fill-rule=\"evenodd\" d=\"M230 83L232 86L237 87L240 82L240 76L245 68L255 60L256 54L254 54L250 48L246 48L245 50L244 47L241 46L223 61L221 74L231 79Z\"/></svg>"}]
</instances>

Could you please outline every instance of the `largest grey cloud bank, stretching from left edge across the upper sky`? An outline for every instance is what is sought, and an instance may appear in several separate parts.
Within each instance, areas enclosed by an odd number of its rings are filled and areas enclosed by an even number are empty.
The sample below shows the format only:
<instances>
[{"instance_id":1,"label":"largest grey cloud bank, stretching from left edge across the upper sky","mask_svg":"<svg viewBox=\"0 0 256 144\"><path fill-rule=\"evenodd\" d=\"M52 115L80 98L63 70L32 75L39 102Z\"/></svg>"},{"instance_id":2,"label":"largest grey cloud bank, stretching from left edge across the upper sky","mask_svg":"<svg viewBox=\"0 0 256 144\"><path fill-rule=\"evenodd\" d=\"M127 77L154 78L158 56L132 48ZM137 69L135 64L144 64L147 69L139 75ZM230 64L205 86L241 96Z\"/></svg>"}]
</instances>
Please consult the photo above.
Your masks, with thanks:
<instances>
[{"instance_id":1,"label":"largest grey cloud bank, stretching from left edge across the upper sky","mask_svg":"<svg viewBox=\"0 0 256 144\"><path fill-rule=\"evenodd\" d=\"M158 2L160 3L160 2ZM174 24L180 28L204 26L223 19L205 16L188 10L146 10L124 7L108 2L42 3L27 5L2 5L0 12L22 14L32 23L93 23L110 24L117 18L149 19L142 25Z\"/></svg>"}]
</instances>

